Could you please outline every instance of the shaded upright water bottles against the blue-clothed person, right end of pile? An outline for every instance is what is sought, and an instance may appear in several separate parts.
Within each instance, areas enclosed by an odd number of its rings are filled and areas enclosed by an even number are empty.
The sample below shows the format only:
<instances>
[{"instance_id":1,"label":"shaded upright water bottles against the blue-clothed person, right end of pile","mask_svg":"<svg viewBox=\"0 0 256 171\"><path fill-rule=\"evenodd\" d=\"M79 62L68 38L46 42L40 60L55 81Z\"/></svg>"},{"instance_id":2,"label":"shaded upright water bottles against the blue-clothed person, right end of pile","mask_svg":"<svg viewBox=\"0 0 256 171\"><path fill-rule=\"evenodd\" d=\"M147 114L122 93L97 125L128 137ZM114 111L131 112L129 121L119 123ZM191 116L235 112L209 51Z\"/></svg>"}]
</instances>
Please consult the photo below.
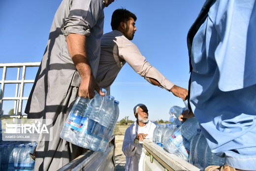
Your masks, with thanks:
<instances>
[{"instance_id":1,"label":"shaded upright water bottles against the blue-clothed person, right end of pile","mask_svg":"<svg viewBox=\"0 0 256 171\"><path fill-rule=\"evenodd\" d=\"M208 166L224 165L224 158L211 152L201 129L197 129L191 139L189 162L200 170L204 170Z\"/></svg>"}]
</instances>

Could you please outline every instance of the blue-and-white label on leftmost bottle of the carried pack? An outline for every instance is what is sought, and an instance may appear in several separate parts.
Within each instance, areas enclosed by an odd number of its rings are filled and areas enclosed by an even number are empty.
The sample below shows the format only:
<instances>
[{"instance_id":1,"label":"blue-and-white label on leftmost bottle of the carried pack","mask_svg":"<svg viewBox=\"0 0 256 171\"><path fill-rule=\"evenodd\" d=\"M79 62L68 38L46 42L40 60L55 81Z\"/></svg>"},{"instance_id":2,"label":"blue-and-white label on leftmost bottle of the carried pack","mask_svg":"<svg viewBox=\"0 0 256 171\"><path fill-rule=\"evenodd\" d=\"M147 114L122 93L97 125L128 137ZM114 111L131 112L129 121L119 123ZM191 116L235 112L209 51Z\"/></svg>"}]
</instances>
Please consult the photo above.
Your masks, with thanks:
<instances>
[{"instance_id":1,"label":"blue-and-white label on leftmost bottle of the carried pack","mask_svg":"<svg viewBox=\"0 0 256 171\"><path fill-rule=\"evenodd\" d=\"M69 117L66 120L65 126L71 127L74 130L81 131L83 127L83 122L86 117L70 113Z\"/></svg>"}]
</instances>

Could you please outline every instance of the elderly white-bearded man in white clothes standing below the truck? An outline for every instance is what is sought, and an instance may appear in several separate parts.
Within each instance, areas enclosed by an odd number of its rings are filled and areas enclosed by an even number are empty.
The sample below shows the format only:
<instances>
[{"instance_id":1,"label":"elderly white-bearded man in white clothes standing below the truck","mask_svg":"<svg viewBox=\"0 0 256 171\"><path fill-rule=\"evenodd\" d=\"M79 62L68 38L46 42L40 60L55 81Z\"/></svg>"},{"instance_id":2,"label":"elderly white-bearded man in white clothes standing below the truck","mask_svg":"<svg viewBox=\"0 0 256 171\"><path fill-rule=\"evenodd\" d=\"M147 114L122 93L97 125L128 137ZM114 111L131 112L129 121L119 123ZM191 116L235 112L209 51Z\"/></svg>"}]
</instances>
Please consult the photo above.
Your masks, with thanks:
<instances>
[{"instance_id":1,"label":"elderly white-bearded man in white clothes standing below the truck","mask_svg":"<svg viewBox=\"0 0 256 171\"><path fill-rule=\"evenodd\" d=\"M122 150L126 156L126 171L142 171L145 153L142 143L134 143L134 140L152 138L156 125L148 120L148 109L145 104L135 105L133 112L137 120L126 130Z\"/></svg>"}]
</instances>

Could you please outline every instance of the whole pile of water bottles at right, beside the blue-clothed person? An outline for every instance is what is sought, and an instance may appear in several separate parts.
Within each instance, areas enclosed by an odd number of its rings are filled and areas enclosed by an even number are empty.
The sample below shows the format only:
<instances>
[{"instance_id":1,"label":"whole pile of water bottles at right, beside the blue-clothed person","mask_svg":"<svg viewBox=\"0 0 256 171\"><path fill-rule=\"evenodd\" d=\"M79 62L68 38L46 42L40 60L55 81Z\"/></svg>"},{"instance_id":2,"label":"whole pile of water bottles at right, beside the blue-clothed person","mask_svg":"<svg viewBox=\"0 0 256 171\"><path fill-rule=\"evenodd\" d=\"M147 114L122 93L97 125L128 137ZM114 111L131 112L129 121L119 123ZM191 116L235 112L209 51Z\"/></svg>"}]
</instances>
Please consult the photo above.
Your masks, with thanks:
<instances>
[{"instance_id":1,"label":"whole pile of water bottles at right, beside the blue-clothed person","mask_svg":"<svg viewBox=\"0 0 256 171\"><path fill-rule=\"evenodd\" d=\"M192 117L184 123L178 120L186 109L187 105L184 108L172 106L169 110L170 124L157 125L153 142L201 170L211 165L222 166L224 158L211 152L197 119Z\"/></svg>"}]
</instances>

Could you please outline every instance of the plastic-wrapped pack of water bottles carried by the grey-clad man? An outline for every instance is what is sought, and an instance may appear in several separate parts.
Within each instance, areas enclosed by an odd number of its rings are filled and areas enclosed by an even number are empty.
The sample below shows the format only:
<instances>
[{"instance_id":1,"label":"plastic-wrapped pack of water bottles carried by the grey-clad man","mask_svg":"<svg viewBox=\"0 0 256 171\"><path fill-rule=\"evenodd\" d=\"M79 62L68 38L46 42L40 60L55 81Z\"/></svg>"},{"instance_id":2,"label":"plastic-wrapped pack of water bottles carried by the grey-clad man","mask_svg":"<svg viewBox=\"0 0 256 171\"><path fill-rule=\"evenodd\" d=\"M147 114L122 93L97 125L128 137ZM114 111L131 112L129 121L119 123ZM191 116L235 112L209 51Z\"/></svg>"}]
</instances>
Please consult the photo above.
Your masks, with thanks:
<instances>
[{"instance_id":1,"label":"plastic-wrapped pack of water bottles carried by the grey-clad man","mask_svg":"<svg viewBox=\"0 0 256 171\"><path fill-rule=\"evenodd\" d=\"M105 89L101 91L106 94ZM77 98L60 137L83 148L104 152L117 123L119 102L113 96L95 93L91 100Z\"/></svg>"}]
</instances>

